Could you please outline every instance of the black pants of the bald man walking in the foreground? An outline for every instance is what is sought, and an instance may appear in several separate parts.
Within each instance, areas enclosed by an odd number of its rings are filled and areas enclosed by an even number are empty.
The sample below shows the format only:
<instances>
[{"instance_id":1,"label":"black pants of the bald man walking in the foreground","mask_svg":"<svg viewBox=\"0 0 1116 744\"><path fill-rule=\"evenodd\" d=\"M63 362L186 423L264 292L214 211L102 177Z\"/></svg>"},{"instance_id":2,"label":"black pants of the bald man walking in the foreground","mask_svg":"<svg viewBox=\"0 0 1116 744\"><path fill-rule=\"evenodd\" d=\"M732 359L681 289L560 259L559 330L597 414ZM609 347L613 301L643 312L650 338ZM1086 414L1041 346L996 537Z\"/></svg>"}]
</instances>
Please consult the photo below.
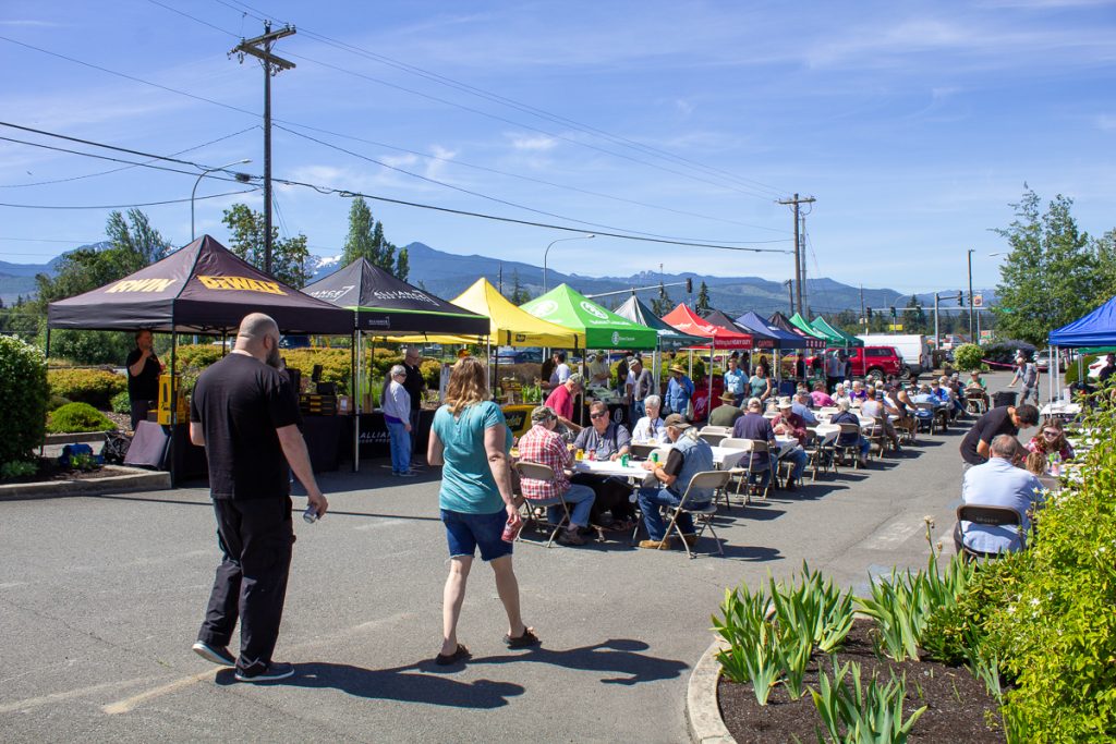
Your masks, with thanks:
<instances>
[{"instance_id":1,"label":"black pants of the bald man walking in the foreground","mask_svg":"<svg viewBox=\"0 0 1116 744\"><path fill-rule=\"evenodd\" d=\"M198 639L228 646L239 617L237 668L249 675L267 669L279 638L295 542L290 509L290 496L213 500L223 557Z\"/></svg>"}]
</instances>

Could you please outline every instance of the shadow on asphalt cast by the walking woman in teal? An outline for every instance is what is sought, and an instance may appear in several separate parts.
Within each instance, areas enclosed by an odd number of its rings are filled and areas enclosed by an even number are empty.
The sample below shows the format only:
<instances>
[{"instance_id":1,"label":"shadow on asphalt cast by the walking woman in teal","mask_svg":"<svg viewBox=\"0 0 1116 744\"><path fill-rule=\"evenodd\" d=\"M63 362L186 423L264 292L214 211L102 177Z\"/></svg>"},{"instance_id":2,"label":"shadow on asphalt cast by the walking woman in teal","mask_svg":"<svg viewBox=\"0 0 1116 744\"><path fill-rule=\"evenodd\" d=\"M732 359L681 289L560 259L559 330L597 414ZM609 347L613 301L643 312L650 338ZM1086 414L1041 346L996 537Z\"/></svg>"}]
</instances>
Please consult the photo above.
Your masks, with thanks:
<instances>
[{"instance_id":1,"label":"shadow on asphalt cast by the walking woman in teal","mask_svg":"<svg viewBox=\"0 0 1116 744\"><path fill-rule=\"evenodd\" d=\"M533 661L581 671L615 673L615 676L600 678L605 685L637 685L644 682L673 679L690 668L690 665L682 661L637 653L647 648L650 646L642 640L610 638L593 646L564 651L536 647L525 654L473 658L469 665Z\"/></svg>"}]
</instances>

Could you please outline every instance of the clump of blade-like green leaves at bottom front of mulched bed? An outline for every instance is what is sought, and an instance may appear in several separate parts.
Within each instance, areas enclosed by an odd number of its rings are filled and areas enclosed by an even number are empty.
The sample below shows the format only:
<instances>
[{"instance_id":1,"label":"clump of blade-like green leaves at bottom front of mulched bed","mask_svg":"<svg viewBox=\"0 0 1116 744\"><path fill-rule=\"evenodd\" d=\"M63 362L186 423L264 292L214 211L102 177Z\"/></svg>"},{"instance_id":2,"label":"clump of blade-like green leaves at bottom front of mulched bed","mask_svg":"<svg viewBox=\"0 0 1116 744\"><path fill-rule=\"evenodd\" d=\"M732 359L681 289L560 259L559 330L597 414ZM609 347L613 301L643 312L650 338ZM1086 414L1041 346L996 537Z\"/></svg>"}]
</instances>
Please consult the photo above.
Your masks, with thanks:
<instances>
[{"instance_id":1,"label":"clump of blade-like green leaves at bottom front of mulched bed","mask_svg":"<svg viewBox=\"0 0 1116 744\"><path fill-rule=\"evenodd\" d=\"M846 683L846 678L852 680L852 685ZM836 660L833 677L822 671L819 675L818 690L810 690L810 696L829 734L829 741L841 744L903 744L927 707L922 706L904 719L905 676L896 679L893 674L886 685L873 676L864 685L859 664L838 665ZM825 741L820 733L818 741Z\"/></svg>"}]
</instances>

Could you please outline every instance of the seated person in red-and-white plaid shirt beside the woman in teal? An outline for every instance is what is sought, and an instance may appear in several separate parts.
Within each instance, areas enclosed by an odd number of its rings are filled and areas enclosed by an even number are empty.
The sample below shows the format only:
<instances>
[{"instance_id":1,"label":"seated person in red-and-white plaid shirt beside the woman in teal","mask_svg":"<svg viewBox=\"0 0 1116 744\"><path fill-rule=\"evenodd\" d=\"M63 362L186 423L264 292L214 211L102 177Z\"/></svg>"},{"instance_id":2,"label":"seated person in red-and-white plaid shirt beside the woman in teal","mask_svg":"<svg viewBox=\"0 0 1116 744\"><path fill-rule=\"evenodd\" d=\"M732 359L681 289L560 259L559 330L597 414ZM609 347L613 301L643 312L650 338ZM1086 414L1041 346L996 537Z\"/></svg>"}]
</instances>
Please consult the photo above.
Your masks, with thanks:
<instances>
[{"instance_id":1,"label":"seated person in red-and-white plaid shirt beside the woman in teal","mask_svg":"<svg viewBox=\"0 0 1116 744\"><path fill-rule=\"evenodd\" d=\"M566 468L573 464L573 453L566 441L556 432L558 416L549 406L538 406L531 412L531 428L519 437L519 458L522 462L547 465L555 472L555 480L537 481L520 477L519 487L528 503L548 502L561 496L570 506L569 524L558 533L558 542L566 545L584 545L585 539L578 530L589 526L589 514L596 494L587 485L570 483ZM558 524L564 519L560 504L547 504L547 520Z\"/></svg>"}]
</instances>

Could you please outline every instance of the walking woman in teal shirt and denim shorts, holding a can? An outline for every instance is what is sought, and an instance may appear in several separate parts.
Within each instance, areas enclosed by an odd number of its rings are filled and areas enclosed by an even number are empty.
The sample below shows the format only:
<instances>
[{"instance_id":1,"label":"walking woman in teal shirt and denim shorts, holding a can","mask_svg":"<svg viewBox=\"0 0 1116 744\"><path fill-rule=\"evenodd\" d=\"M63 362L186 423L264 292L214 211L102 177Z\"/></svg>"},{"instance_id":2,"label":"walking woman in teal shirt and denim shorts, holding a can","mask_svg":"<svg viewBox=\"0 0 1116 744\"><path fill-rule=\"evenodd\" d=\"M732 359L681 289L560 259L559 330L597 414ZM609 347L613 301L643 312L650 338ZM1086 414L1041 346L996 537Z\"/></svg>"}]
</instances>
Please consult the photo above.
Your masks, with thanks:
<instances>
[{"instance_id":1,"label":"walking woman in teal shirt and denim shorts, holding a can","mask_svg":"<svg viewBox=\"0 0 1116 744\"><path fill-rule=\"evenodd\" d=\"M488 374L474 357L458 360L450 374L445 405L434 414L427 461L443 465L439 506L450 544L450 577L442 606L442 650L435 661L469 658L458 642L458 619L465 583L478 548L496 572L496 588L508 613L509 648L539 642L519 613L519 583L511 567L511 543L502 540L504 524L516 531L521 520L511 493L511 432L500 406L488 399Z\"/></svg>"}]
</instances>

